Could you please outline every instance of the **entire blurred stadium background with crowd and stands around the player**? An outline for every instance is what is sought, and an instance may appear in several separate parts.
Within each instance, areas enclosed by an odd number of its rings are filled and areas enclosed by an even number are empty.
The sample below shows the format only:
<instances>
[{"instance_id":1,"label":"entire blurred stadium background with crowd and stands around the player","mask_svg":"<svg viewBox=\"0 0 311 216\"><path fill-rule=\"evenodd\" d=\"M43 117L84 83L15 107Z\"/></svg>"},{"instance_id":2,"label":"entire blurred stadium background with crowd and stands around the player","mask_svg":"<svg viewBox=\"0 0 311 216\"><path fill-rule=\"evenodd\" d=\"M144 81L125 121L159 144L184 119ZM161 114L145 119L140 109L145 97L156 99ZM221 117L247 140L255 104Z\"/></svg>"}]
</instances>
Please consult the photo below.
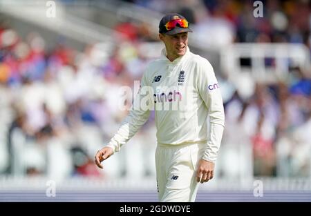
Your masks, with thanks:
<instances>
[{"instance_id":1,"label":"entire blurred stadium background with crowd and stands around the player","mask_svg":"<svg viewBox=\"0 0 311 216\"><path fill-rule=\"evenodd\" d=\"M157 201L153 115L104 170L93 157L126 115L120 87L160 55L160 18L178 12L226 114L197 201L310 202L311 3L261 2L263 17L247 0L0 0L0 201Z\"/></svg>"}]
</instances>

